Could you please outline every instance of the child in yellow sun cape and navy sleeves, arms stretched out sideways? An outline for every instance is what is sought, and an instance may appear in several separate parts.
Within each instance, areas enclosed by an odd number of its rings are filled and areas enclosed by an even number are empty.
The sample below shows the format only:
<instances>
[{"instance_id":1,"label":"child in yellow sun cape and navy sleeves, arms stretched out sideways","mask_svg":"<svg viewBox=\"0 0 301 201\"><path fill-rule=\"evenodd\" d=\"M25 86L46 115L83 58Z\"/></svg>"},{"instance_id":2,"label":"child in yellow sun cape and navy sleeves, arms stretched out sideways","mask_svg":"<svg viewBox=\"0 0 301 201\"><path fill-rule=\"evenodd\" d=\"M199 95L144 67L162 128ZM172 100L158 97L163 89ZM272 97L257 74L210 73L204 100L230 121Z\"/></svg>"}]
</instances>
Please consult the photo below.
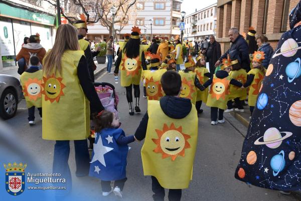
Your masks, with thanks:
<instances>
[{"instance_id":1,"label":"child in yellow sun cape and navy sleeves, arms stretched out sideways","mask_svg":"<svg viewBox=\"0 0 301 201\"><path fill-rule=\"evenodd\" d=\"M230 84L241 87L242 83L229 76L232 65L238 60L223 59L221 70L217 71L211 79L205 82L204 87L211 85L206 105L211 109L211 124L224 123L224 110L227 108Z\"/></svg>"}]
</instances>

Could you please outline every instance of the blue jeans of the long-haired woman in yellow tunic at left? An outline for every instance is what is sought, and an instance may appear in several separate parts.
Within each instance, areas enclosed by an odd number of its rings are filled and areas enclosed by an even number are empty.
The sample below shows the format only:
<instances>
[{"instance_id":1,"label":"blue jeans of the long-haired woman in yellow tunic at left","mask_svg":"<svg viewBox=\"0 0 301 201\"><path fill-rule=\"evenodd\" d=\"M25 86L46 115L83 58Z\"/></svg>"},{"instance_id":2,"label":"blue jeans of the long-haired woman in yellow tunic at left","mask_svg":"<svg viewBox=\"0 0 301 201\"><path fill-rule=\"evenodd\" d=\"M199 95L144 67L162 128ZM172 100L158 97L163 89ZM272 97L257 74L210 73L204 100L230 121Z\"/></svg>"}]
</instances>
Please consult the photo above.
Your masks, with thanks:
<instances>
[{"instance_id":1,"label":"blue jeans of the long-haired woman in yellow tunic at left","mask_svg":"<svg viewBox=\"0 0 301 201\"><path fill-rule=\"evenodd\" d=\"M90 156L88 151L87 140L74 140L75 148L75 163L76 163L76 176L86 176L89 174ZM57 190L56 195L65 195L71 191L72 178L68 164L70 153L69 140L57 140L54 145L53 156L53 173L60 173L59 178L65 178L66 183L58 183L58 186L66 186L66 190Z\"/></svg>"}]
</instances>

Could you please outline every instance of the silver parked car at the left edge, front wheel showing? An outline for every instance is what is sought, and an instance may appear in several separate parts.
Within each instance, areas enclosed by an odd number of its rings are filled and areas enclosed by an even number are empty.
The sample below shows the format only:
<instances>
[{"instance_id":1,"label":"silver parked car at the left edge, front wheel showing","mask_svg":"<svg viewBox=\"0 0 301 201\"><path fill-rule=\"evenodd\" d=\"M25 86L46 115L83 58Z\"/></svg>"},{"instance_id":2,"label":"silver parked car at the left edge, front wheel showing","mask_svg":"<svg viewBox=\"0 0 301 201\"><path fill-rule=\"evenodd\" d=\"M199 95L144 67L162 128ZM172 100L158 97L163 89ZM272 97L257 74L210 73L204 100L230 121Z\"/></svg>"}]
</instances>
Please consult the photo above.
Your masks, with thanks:
<instances>
[{"instance_id":1,"label":"silver parked car at the left edge, front wheel showing","mask_svg":"<svg viewBox=\"0 0 301 201\"><path fill-rule=\"evenodd\" d=\"M0 116L3 119L14 117L22 98L20 81L14 76L0 74Z\"/></svg>"}]
</instances>

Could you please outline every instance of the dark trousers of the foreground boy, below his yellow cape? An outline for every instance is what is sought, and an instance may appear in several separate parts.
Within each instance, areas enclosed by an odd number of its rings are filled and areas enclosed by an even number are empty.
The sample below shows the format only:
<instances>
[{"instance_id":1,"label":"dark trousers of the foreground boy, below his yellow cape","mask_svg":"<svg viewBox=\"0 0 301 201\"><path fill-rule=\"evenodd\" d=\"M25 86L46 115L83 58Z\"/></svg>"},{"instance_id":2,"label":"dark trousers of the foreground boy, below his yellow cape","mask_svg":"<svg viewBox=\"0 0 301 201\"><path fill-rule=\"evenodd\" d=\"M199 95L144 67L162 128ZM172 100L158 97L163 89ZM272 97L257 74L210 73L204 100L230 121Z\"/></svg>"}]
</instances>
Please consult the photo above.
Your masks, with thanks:
<instances>
[{"instance_id":1,"label":"dark trousers of the foreground boy, below his yellow cape","mask_svg":"<svg viewBox=\"0 0 301 201\"><path fill-rule=\"evenodd\" d=\"M152 190L154 201L164 201L165 191L155 176L152 176ZM180 201L182 196L182 189L169 189L169 201Z\"/></svg>"}]
</instances>

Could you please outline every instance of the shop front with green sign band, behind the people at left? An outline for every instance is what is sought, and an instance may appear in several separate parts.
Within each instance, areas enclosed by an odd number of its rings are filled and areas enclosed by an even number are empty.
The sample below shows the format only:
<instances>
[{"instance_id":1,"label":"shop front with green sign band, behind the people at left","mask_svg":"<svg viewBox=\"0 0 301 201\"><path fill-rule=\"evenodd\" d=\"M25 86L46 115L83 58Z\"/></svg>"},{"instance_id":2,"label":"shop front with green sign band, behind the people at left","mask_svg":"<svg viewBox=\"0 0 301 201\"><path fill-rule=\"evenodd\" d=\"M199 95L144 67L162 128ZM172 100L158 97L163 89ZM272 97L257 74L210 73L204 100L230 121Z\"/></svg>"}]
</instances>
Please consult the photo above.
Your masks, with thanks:
<instances>
[{"instance_id":1,"label":"shop front with green sign band, behind the people at left","mask_svg":"<svg viewBox=\"0 0 301 201\"><path fill-rule=\"evenodd\" d=\"M16 66L24 37L40 34L46 51L55 40L55 8L43 0L0 2L0 70Z\"/></svg>"}]
</instances>

